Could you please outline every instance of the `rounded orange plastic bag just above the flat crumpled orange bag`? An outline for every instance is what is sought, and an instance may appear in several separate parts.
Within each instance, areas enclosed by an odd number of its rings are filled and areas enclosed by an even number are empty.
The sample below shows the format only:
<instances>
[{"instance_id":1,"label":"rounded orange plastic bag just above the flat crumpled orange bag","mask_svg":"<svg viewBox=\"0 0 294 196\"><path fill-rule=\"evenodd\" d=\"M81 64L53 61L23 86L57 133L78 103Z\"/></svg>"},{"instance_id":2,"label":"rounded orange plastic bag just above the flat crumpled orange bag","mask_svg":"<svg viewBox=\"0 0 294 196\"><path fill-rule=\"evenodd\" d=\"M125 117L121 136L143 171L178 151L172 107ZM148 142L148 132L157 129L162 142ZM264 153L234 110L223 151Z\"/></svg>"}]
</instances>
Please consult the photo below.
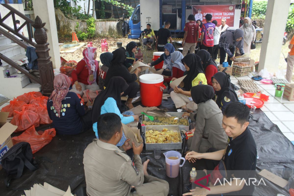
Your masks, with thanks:
<instances>
[{"instance_id":1,"label":"rounded orange plastic bag just above the flat crumpled orange bag","mask_svg":"<svg viewBox=\"0 0 294 196\"><path fill-rule=\"evenodd\" d=\"M21 132L33 125L35 127L39 127L40 118L39 114L37 114L36 112L25 110L25 108L23 108L21 111L14 110L13 118L10 123L18 126L18 128L14 132Z\"/></svg>"}]
</instances>

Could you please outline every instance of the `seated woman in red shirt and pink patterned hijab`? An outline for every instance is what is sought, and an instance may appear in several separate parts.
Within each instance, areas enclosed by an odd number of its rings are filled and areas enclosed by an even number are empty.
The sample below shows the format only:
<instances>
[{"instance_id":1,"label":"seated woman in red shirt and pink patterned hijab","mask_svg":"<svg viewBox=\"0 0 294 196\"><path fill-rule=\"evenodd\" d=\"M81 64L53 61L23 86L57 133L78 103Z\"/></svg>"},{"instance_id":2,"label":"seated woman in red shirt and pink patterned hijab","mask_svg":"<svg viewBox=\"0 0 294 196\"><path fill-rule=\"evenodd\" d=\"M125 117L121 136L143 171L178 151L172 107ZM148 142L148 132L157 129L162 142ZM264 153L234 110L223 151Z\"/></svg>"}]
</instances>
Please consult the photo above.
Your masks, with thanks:
<instances>
[{"instance_id":1,"label":"seated woman in red shirt and pink patterned hijab","mask_svg":"<svg viewBox=\"0 0 294 196\"><path fill-rule=\"evenodd\" d=\"M70 90L76 94L83 96L83 91L89 89L91 91L99 90L98 76L99 63L96 61L97 48L87 47L83 50L84 58L78 62L76 69L73 70L71 76L73 78L73 86Z\"/></svg>"}]
</instances>

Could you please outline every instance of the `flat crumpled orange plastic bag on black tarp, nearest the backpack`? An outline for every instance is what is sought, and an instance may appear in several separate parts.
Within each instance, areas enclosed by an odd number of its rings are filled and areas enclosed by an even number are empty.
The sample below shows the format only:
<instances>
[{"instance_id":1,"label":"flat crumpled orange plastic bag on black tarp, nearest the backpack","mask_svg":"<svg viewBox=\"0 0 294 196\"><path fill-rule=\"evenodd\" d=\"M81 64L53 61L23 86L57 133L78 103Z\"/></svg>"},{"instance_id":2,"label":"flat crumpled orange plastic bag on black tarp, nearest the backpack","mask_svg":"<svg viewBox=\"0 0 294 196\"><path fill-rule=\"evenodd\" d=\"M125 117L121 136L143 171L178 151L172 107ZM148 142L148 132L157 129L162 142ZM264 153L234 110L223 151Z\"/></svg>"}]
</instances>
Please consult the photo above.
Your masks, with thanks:
<instances>
[{"instance_id":1,"label":"flat crumpled orange plastic bag on black tarp, nearest the backpack","mask_svg":"<svg viewBox=\"0 0 294 196\"><path fill-rule=\"evenodd\" d=\"M47 129L44 132L38 131L34 126L31 126L24 133L17 137L11 138L13 145L16 145L20 142L28 142L31 145L33 154L43 148L45 145L49 144L52 138L56 135L55 129Z\"/></svg>"}]
</instances>

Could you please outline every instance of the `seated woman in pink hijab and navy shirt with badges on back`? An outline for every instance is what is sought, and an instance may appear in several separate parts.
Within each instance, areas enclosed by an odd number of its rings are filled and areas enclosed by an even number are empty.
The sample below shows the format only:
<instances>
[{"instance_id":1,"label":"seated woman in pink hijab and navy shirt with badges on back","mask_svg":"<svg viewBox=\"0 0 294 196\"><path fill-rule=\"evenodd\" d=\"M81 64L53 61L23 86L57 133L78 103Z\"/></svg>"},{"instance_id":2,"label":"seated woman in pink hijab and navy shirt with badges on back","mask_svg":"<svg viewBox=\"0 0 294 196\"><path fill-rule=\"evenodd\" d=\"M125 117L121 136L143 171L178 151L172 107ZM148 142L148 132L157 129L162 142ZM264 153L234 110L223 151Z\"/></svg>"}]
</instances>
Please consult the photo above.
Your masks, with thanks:
<instances>
[{"instance_id":1,"label":"seated woman in pink hijab and navy shirt with badges on back","mask_svg":"<svg viewBox=\"0 0 294 196\"><path fill-rule=\"evenodd\" d=\"M47 101L47 111L58 134L74 135L92 127L91 110L85 108L76 93L69 92L71 80L65 74L54 78L54 91Z\"/></svg>"}]
</instances>

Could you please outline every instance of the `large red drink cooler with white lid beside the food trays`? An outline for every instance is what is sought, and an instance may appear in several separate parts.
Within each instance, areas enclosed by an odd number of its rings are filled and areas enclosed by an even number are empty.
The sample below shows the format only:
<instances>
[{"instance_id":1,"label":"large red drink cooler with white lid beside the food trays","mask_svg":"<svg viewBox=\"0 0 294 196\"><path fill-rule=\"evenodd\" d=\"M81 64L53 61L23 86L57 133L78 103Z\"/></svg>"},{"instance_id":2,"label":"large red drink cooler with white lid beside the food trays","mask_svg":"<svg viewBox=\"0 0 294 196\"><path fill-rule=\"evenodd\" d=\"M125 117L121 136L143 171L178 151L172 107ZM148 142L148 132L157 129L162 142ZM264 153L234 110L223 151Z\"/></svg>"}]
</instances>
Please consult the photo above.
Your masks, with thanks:
<instances>
[{"instance_id":1,"label":"large red drink cooler with white lid beside the food trays","mask_svg":"<svg viewBox=\"0 0 294 196\"><path fill-rule=\"evenodd\" d=\"M166 88L163 85L163 76L154 73L144 74L139 77L139 81L141 103L147 107L160 105L163 94L161 89Z\"/></svg>"}]
</instances>

